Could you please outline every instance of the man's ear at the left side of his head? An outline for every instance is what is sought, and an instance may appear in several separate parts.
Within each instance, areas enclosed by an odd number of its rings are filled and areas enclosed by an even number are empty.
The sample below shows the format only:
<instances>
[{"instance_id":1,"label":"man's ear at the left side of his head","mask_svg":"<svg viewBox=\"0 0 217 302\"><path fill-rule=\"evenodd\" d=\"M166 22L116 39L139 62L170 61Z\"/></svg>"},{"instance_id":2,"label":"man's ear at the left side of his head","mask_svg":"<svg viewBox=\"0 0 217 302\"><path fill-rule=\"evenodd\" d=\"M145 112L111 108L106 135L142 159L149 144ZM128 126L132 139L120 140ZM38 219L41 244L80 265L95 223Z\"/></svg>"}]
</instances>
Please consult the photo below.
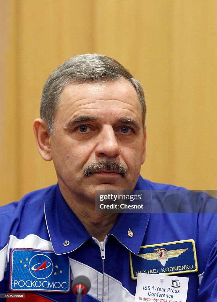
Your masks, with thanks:
<instances>
[{"instance_id":1,"label":"man's ear at the left side of his head","mask_svg":"<svg viewBox=\"0 0 217 302\"><path fill-rule=\"evenodd\" d=\"M51 145L50 145L50 130L48 129L48 125L41 118L37 118L34 121L33 129L35 133L35 140L38 147L38 152L41 157L46 160L52 160L51 155Z\"/></svg>"}]
</instances>

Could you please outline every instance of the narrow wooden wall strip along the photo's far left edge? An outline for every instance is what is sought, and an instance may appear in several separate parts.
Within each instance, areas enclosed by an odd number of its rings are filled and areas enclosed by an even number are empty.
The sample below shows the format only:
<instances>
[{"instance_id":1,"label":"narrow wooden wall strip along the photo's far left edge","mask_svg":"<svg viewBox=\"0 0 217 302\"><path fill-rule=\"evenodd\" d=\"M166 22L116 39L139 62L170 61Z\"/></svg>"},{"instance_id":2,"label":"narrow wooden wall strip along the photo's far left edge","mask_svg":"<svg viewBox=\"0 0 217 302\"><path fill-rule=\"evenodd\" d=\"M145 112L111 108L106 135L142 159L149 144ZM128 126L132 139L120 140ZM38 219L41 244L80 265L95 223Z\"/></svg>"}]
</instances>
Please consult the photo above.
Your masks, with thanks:
<instances>
[{"instance_id":1,"label":"narrow wooden wall strip along the photo's far left edge","mask_svg":"<svg viewBox=\"0 0 217 302\"><path fill-rule=\"evenodd\" d=\"M15 14L14 2L0 1L0 205L18 195Z\"/></svg>"}]
</instances>

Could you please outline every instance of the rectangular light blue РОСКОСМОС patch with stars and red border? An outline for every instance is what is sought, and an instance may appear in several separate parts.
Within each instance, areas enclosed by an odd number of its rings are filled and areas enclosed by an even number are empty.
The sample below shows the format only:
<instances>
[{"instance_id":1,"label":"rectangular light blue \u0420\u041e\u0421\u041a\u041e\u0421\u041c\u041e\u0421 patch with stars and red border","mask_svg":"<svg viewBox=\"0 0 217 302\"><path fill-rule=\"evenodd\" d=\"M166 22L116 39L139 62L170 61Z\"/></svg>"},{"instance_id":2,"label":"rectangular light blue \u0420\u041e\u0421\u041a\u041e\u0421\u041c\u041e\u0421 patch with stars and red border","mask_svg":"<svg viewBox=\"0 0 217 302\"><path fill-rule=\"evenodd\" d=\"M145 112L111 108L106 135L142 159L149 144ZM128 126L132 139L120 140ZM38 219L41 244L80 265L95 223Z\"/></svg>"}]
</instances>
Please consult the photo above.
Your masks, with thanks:
<instances>
[{"instance_id":1,"label":"rectangular light blue \u0420\u041e\u0421\u041a\u041e\u0421\u041c\u041e\u0421 patch with stars and red border","mask_svg":"<svg viewBox=\"0 0 217 302\"><path fill-rule=\"evenodd\" d=\"M69 292L71 273L67 255L36 249L12 249L10 290Z\"/></svg>"}]
</instances>

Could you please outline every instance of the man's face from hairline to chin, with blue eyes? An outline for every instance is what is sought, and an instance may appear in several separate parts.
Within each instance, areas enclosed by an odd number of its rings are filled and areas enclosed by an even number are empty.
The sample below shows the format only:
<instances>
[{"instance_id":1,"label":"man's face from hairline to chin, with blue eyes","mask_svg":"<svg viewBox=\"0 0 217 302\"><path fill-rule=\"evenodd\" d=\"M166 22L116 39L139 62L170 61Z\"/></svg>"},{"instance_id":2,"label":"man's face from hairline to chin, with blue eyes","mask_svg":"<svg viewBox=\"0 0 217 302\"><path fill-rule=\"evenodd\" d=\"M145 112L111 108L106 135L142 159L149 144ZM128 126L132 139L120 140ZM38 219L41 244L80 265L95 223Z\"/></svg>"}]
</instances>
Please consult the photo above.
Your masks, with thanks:
<instances>
[{"instance_id":1,"label":"man's face from hairline to chin, with blue eyes","mask_svg":"<svg viewBox=\"0 0 217 302\"><path fill-rule=\"evenodd\" d=\"M65 198L94 201L95 190L135 187L145 159L146 135L140 101L129 81L67 85L54 128L51 156ZM99 162L115 162L127 173L103 168L85 175L87 167Z\"/></svg>"}]
</instances>

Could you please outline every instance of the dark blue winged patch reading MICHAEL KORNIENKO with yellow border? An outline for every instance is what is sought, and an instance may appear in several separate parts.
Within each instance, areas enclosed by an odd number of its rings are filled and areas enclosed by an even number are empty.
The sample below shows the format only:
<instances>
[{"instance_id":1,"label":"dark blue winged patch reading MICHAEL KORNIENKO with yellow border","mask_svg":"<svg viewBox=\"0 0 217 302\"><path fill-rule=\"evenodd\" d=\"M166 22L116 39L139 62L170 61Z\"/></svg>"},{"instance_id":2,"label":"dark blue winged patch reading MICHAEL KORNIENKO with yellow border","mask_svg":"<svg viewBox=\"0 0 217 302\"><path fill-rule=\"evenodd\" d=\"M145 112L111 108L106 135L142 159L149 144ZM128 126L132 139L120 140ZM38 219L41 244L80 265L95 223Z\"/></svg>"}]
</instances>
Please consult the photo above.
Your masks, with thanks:
<instances>
[{"instance_id":1,"label":"dark blue winged patch reading MICHAEL KORNIENKO with yellow border","mask_svg":"<svg viewBox=\"0 0 217 302\"><path fill-rule=\"evenodd\" d=\"M176 275L198 270L193 239L141 246L138 255L130 252L131 278L138 273Z\"/></svg>"}]
</instances>

